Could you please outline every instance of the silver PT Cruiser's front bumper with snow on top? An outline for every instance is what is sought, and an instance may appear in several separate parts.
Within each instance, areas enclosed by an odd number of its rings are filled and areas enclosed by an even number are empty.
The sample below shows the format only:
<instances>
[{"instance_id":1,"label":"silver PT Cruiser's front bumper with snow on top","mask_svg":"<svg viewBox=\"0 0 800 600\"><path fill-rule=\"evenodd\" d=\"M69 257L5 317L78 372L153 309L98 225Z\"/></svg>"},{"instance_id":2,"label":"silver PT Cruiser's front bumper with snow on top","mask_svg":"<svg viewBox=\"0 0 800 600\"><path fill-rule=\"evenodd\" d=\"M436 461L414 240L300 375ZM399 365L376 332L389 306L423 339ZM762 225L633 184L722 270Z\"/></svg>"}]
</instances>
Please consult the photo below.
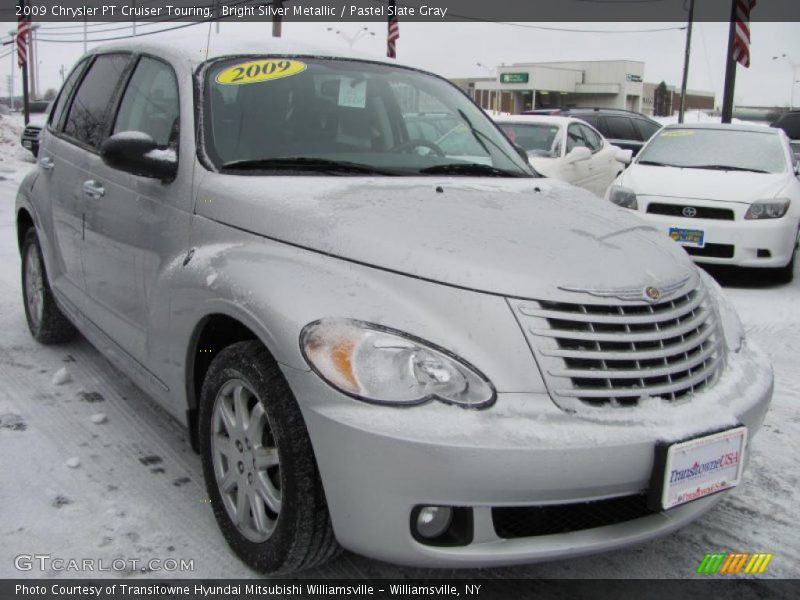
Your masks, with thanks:
<instances>
[{"instance_id":1,"label":"silver PT Cruiser's front bumper with snow on top","mask_svg":"<svg viewBox=\"0 0 800 600\"><path fill-rule=\"evenodd\" d=\"M284 368L303 410L339 542L395 563L481 567L611 550L673 531L725 493L668 512L569 533L501 539L492 508L640 494L657 441L742 423L750 439L772 395L764 355L745 346L720 381L690 402L567 414L544 394L500 394L485 411L440 403L387 408L342 396L315 374ZM746 472L745 472L746 477ZM439 547L411 534L419 505L470 507L471 543Z\"/></svg>"}]
</instances>

